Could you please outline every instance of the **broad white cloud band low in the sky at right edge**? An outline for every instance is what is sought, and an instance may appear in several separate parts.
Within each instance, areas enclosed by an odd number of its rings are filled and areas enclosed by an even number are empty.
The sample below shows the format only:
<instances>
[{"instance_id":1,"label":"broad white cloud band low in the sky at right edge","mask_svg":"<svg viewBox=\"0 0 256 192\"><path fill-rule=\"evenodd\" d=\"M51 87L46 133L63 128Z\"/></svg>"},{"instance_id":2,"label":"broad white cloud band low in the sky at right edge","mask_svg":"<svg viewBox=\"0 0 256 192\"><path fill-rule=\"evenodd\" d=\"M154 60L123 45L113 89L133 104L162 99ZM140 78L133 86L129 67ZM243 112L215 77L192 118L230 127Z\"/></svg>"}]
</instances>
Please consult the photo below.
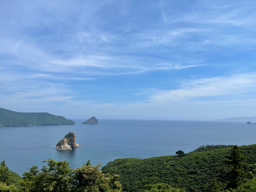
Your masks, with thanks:
<instances>
[{"instance_id":1,"label":"broad white cloud band low in the sky at right edge","mask_svg":"<svg viewBox=\"0 0 256 192\"><path fill-rule=\"evenodd\" d=\"M238 95L255 92L256 74L218 76L189 80L181 84L180 89L161 90L150 95L150 102L168 103L191 100L199 97Z\"/></svg>"}]
</instances>

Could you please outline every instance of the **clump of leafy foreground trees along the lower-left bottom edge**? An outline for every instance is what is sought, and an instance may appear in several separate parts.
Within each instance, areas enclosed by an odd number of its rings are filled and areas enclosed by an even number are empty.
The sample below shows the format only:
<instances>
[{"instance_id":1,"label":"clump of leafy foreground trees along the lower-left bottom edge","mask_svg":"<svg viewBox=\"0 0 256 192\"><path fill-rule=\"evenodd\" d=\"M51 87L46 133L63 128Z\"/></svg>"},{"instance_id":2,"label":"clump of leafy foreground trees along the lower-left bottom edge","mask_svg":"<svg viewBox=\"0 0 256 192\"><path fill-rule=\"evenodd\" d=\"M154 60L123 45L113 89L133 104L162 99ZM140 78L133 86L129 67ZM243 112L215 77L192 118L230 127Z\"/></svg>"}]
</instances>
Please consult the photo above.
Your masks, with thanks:
<instances>
[{"instance_id":1,"label":"clump of leafy foreground trees along the lower-left bottom edge","mask_svg":"<svg viewBox=\"0 0 256 192\"><path fill-rule=\"evenodd\" d=\"M118 175L103 174L100 164L86 165L71 169L67 161L49 159L42 169L37 166L19 178L19 185L8 183L6 176L0 182L0 192L121 192L122 186ZM5 169L8 167L4 166ZM1 172L0 172L1 173Z\"/></svg>"}]
</instances>

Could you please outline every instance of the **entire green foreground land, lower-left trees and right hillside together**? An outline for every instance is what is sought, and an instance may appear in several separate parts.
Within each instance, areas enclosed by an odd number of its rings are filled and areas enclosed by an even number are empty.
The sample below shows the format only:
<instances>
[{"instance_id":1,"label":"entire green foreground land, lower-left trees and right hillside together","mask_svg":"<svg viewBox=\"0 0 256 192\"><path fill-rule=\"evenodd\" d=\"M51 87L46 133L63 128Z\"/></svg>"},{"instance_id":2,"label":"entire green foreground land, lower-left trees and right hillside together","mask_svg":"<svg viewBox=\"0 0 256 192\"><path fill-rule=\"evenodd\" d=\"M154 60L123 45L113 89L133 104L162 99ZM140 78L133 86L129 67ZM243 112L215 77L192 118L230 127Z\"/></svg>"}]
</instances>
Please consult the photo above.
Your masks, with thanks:
<instances>
[{"instance_id":1,"label":"entire green foreground land, lower-left trees and right hillside together","mask_svg":"<svg viewBox=\"0 0 256 192\"><path fill-rule=\"evenodd\" d=\"M187 154L147 159L124 158L71 169L49 159L22 176L0 166L0 192L253 192L256 144L201 146Z\"/></svg>"}]
</instances>

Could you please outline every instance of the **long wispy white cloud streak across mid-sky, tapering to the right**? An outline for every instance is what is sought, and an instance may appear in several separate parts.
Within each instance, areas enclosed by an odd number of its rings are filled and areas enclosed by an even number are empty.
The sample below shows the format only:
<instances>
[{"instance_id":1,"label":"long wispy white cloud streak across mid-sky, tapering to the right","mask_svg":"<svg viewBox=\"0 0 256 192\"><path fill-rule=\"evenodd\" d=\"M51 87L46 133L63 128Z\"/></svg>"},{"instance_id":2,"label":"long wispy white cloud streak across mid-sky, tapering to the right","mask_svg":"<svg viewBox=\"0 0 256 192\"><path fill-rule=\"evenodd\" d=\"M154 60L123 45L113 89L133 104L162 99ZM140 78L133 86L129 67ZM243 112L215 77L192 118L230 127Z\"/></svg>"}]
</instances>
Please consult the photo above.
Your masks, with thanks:
<instances>
[{"instance_id":1,"label":"long wispy white cloud streak across mid-sky, tapering to the right","mask_svg":"<svg viewBox=\"0 0 256 192\"><path fill-rule=\"evenodd\" d=\"M203 65L159 64L159 60L153 59L152 57L140 58L137 56L128 57L125 55L112 56L102 54L78 54L72 59L60 59L25 41L18 41L17 43L15 39L2 39L2 42L6 46L0 49L0 53L14 56L15 62L12 65L21 65L26 67L27 71L34 71L34 78L61 79L60 76L63 76L61 73L66 73L68 75L74 75L74 79L76 80L90 80L86 76L140 74L148 71L184 69ZM8 68L7 66L10 67L10 64L5 65L6 68ZM45 74L42 71L53 73Z\"/></svg>"}]
</instances>

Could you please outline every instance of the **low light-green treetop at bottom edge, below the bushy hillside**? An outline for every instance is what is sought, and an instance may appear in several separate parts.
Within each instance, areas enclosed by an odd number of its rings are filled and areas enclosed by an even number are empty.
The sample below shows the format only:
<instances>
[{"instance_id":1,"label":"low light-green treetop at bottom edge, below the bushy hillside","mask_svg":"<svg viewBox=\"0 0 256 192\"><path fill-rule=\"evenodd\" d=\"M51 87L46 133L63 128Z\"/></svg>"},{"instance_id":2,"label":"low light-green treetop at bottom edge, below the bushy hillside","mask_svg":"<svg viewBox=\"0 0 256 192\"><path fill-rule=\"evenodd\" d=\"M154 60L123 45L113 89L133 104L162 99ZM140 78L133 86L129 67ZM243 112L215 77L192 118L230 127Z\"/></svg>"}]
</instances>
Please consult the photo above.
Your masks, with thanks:
<instances>
[{"instance_id":1,"label":"low light-green treetop at bottom edge, below the bushy hillside","mask_svg":"<svg viewBox=\"0 0 256 192\"><path fill-rule=\"evenodd\" d=\"M148 184L144 192L185 192L184 189L174 188L166 183Z\"/></svg>"}]
</instances>

